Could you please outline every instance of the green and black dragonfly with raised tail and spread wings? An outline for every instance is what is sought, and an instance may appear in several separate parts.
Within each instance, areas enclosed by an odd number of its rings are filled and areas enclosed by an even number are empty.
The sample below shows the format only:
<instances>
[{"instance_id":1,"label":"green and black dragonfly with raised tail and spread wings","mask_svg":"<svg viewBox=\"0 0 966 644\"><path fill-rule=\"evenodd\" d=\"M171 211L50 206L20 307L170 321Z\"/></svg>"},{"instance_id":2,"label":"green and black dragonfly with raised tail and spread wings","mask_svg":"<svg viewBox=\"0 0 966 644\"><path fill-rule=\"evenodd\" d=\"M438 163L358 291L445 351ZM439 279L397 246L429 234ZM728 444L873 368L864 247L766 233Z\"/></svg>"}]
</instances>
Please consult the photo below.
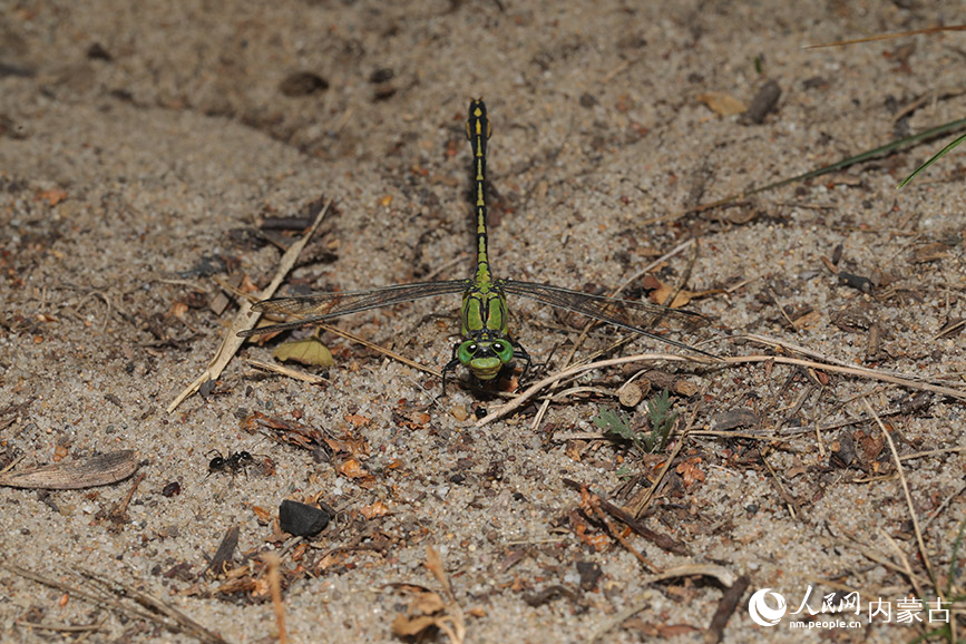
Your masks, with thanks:
<instances>
[{"instance_id":1,"label":"green and black dragonfly with raised tail and spread wings","mask_svg":"<svg viewBox=\"0 0 966 644\"><path fill-rule=\"evenodd\" d=\"M704 318L690 311L673 310L648 302L621 300L591 295L570 289L521 282L519 280L495 279L490 272L487 205L486 205L486 153L487 139L491 134L482 99L471 100L466 135L472 147L472 174L475 215L476 215L476 274L467 280L442 280L398 284L365 291L313 293L300 297L275 297L264 300L253 306L254 311L273 315L293 316L295 320L242 331L246 338L284 329L294 329L315 322L328 322L359 311L380 309L422 297L433 297L462 293L460 309L460 333L462 340L452 349L452 358L442 370L442 389L446 391L446 374L460 364L481 382L491 381L507 369L514 360L523 361L521 377L530 365L530 357L509 331L507 294L529 297L557 309L580 313L587 318L627 329L652 340L686 349L704 355L712 355L683 342L655 335L647 331L658 319L687 323L703 321Z\"/></svg>"}]
</instances>

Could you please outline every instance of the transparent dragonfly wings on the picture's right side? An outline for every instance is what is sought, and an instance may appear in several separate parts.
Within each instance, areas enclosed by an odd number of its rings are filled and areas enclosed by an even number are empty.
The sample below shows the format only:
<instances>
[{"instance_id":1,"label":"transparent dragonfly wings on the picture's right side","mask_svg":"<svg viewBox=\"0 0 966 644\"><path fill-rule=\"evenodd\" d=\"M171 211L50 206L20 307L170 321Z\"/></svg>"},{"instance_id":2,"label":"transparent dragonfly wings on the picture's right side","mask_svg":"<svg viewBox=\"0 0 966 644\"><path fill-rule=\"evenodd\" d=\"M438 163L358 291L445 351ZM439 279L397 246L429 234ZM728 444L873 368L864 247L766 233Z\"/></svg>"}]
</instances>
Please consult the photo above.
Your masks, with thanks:
<instances>
[{"instance_id":1,"label":"transparent dragonfly wings on the picture's right side","mask_svg":"<svg viewBox=\"0 0 966 644\"><path fill-rule=\"evenodd\" d=\"M614 324L622 329L627 329L635 333L640 333L652 340L677 347L679 349L687 349L704 355L712 355L706 351L695 349L690 344L663 338L648 331L660 322L666 322L671 326L683 329L687 326L696 326L708 323L708 319L699 313L691 311L680 311L677 309L669 309L650 302L635 302L633 300L621 300L618 297L605 297L603 295L591 295L570 289L560 286L552 286L549 284L537 284L535 282L519 282L517 280L499 280L497 285L505 293L529 297L543 304L549 304L564 311L573 311L599 320L607 324Z\"/></svg>"}]
</instances>

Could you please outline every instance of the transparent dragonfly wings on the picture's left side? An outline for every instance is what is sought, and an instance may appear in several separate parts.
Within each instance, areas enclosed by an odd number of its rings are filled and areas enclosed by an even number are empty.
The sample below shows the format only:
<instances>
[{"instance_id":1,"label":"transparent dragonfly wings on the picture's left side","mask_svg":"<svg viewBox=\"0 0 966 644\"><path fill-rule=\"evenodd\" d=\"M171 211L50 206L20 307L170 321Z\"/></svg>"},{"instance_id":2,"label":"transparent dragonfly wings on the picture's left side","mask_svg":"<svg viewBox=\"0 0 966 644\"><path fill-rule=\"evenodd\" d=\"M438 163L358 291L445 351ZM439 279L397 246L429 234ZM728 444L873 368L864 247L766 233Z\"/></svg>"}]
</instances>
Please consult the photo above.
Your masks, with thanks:
<instances>
[{"instance_id":1,"label":"transparent dragonfly wings on the picture's left side","mask_svg":"<svg viewBox=\"0 0 966 644\"><path fill-rule=\"evenodd\" d=\"M383 289L370 289L367 291L345 291L331 293L313 293L301 297L275 297L263 300L254 306L253 311L273 315L293 315L297 320L283 322L260 329L241 331L238 335L248 338L284 329L295 329L324 322L340 315L380 309L402 302L411 302L422 297L447 295L449 293L462 293L472 285L470 280L447 280L440 282L417 282L414 284L397 284Z\"/></svg>"}]
</instances>

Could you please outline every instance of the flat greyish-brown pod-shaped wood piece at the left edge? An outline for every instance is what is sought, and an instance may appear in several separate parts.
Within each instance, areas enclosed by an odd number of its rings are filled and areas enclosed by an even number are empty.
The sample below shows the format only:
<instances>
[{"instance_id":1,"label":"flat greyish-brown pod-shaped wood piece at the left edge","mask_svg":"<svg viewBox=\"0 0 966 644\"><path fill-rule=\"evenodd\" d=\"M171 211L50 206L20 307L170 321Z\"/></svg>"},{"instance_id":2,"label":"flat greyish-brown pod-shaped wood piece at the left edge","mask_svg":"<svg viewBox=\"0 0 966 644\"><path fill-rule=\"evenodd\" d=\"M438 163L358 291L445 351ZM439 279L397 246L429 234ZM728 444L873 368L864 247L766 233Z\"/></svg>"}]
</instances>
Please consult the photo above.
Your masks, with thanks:
<instances>
[{"instance_id":1,"label":"flat greyish-brown pod-shaped wood piece at the left edge","mask_svg":"<svg viewBox=\"0 0 966 644\"><path fill-rule=\"evenodd\" d=\"M138 462L133 449L101 453L85 460L59 462L0 475L0 486L26 489L78 490L121 481Z\"/></svg>"}]
</instances>

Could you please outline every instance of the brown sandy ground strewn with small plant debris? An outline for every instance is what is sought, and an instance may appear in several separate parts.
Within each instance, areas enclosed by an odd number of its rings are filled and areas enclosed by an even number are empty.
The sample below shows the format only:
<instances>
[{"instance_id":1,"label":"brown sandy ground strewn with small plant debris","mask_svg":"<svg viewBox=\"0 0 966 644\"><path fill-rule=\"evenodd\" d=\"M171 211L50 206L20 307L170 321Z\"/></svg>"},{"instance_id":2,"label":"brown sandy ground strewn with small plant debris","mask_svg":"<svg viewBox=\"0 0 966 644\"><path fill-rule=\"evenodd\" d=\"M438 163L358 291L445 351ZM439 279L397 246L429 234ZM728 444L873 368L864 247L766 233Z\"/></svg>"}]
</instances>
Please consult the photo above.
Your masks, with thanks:
<instances>
[{"instance_id":1,"label":"brown sandy ground strewn with small plant debris","mask_svg":"<svg viewBox=\"0 0 966 644\"><path fill-rule=\"evenodd\" d=\"M266 217L335 199L289 279L302 290L468 275L464 121L475 96L486 97L494 125L498 275L607 292L697 240L693 262L689 246L655 270L704 293L689 309L712 324L677 338L751 355L771 349L733 336L765 335L822 361L962 390L963 335L937 339L964 316L959 155L895 189L938 142L653 222L960 118L959 36L802 46L956 22L962 2L142 4L0 2L0 466L136 449L144 477L134 490L135 478L72 491L0 488L6 563L75 584L67 570L97 570L230 642L277 640L264 550L282 555L290 641L398 641L391 625L412 595L396 584L441 589L427 546L452 586L456 605L443 614L462 612L467 642L702 641L722 582L652 575L712 564L749 582L729 642L894 642L921 632L895 614L890 623L862 615L857 628L792 628L802 615L764 627L748 601L768 587L791 611L810 585L813 607L819 595L855 591L863 614L876 598L935 599L890 448L863 401L890 423L899 453L931 452L902 464L945 592L966 504L966 457L956 451L964 407L954 397L914 399L914 388L782 363L652 362L570 382L537 428L534 406L477 427L478 410L492 412L497 399L468 388L437 398L439 379L326 334L338 365L322 384L241 360L271 361L274 340L243 349L206 397L166 408L231 323L234 306L216 314L208 305L221 293L215 279L270 280L280 251L257 232ZM748 104L770 80L782 95L762 124L702 100L720 92ZM841 284L833 260L869 277L871 292ZM641 286L624 293L641 296ZM574 321L510 305L519 340L537 362L549 360L547 371L559 369ZM428 300L342 326L440 368L457 306L457 297ZM613 338L593 332L579 355ZM667 348L636 340L616 354L655 351ZM679 433L664 456L646 457L573 438L599 432L592 419L618 407L616 390L640 369L660 371L645 399L675 387L679 431L689 420L721 431ZM646 426L646 400L623 413ZM253 418L324 433L335 453L269 440ZM677 448L641 517L679 543L672 550L605 514L608 528L564 484L631 506ZM274 472L208 477L214 449L264 455ZM163 495L175 481L180 494ZM299 547L271 520L283 499L309 497L340 514ZM241 582L199 578L232 526ZM100 630L57 630L90 624ZM3 642L84 637L194 641L0 569Z\"/></svg>"}]
</instances>

